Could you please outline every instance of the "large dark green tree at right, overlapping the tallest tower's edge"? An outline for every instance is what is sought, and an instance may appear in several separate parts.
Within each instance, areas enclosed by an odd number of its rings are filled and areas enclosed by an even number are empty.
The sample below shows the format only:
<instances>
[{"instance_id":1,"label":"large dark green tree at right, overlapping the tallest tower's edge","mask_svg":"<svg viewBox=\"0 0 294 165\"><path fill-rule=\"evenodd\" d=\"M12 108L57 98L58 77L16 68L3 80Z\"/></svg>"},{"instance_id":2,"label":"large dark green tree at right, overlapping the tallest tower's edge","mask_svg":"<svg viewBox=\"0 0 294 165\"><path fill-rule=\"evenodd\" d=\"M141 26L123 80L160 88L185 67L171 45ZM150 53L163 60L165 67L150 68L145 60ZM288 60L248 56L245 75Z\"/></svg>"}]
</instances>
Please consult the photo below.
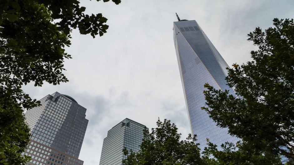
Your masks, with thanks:
<instances>
[{"instance_id":1,"label":"large dark green tree at right, overlapping the tallest tower's edge","mask_svg":"<svg viewBox=\"0 0 294 165\"><path fill-rule=\"evenodd\" d=\"M251 51L252 61L227 68L228 85L239 97L205 84L203 109L246 145L293 159L294 24L293 19L275 18L273 25L248 34L258 46Z\"/></svg>"}]
</instances>

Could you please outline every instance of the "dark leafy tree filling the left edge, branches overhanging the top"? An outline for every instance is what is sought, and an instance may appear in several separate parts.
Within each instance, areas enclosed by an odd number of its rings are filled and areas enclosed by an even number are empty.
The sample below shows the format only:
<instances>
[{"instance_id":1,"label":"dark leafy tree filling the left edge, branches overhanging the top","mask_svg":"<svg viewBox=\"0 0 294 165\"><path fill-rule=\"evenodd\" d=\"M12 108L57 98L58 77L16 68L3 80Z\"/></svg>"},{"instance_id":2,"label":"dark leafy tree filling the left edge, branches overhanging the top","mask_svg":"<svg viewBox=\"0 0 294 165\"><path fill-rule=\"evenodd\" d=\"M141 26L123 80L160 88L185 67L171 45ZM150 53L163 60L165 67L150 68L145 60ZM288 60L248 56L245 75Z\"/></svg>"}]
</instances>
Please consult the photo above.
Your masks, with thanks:
<instances>
[{"instance_id":1,"label":"dark leafy tree filling the left edge, branches overhanging the top","mask_svg":"<svg viewBox=\"0 0 294 165\"><path fill-rule=\"evenodd\" d=\"M100 1L100 0L97 0ZM103 0L108 2L109 0ZM120 0L112 0L119 4ZM0 2L0 163L24 164L29 142L23 111L40 105L22 85L67 82L64 59L71 56L72 29L93 38L106 33L107 18L85 14L79 0L2 0Z\"/></svg>"}]
</instances>

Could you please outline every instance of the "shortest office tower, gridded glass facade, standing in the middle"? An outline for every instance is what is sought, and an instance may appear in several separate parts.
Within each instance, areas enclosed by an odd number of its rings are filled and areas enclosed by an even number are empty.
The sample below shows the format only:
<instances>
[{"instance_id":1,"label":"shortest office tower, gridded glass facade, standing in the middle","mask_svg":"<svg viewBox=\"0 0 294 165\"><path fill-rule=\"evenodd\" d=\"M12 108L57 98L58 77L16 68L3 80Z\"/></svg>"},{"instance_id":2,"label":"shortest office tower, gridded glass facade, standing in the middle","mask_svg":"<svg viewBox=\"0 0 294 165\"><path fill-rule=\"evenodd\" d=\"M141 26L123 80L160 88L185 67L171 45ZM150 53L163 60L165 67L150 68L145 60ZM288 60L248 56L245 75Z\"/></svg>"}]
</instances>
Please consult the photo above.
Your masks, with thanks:
<instances>
[{"instance_id":1,"label":"shortest office tower, gridded glass facade, standing in the middle","mask_svg":"<svg viewBox=\"0 0 294 165\"><path fill-rule=\"evenodd\" d=\"M139 151L143 139L144 125L128 118L116 124L104 138L100 165L121 165L126 158L123 148Z\"/></svg>"}]
</instances>

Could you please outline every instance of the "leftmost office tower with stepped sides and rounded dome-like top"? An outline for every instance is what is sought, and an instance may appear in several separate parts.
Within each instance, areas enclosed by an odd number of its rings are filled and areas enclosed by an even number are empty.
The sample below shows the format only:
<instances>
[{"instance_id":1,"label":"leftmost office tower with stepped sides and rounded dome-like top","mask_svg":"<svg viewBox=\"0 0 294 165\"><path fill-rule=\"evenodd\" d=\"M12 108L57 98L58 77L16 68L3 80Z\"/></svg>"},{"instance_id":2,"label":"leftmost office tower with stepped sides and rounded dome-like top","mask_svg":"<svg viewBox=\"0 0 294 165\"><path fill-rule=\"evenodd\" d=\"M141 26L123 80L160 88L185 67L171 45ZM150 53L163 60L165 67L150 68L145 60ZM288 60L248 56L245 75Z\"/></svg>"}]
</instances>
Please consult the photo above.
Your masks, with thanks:
<instances>
[{"instance_id":1,"label":"leftmost office tower with stepped sides and rounded dome-like top","mask_svg":"<svg viewBox=\"0 0 294 165\"><path fill-rule=\"evenodd\" d=\"M31 141L23 154L28 165L82 165L79 153L88 125L86 109L68 95L47 95L25 113Z\"/></svg>"}]
</instances>

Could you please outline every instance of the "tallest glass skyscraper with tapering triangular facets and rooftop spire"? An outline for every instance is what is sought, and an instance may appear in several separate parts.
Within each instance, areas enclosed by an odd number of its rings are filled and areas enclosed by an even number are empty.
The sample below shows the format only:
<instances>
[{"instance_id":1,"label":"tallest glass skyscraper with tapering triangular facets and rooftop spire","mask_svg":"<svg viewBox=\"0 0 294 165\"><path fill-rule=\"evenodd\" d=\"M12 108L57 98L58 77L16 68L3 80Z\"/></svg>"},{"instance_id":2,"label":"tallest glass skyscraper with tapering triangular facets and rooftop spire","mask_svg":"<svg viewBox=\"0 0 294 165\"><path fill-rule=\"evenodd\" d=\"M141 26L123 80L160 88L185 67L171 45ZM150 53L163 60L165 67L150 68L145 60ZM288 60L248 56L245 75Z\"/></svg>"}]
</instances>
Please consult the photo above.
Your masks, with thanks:
<instances>
[{"instance_id":1,"label":"tallest glass skyscraper with tapering triangular facets and rooftop spire","mask_svg":"<svg viewBox=\"0 0 294 165\"><path fill-rule=\"evenodd\" d=\"M174 22L174 42L191 131L197 134L200 148L204 148L206 138L217 145L236 142L237 138L231 137L227 129L217 127L201 109L205 106L205 83L216 89L230 90L229 93L236 96L226 85L226 67L229 66L195 20L180 20L179 17L178 20Z\"/></svg>"}]
</instances>

